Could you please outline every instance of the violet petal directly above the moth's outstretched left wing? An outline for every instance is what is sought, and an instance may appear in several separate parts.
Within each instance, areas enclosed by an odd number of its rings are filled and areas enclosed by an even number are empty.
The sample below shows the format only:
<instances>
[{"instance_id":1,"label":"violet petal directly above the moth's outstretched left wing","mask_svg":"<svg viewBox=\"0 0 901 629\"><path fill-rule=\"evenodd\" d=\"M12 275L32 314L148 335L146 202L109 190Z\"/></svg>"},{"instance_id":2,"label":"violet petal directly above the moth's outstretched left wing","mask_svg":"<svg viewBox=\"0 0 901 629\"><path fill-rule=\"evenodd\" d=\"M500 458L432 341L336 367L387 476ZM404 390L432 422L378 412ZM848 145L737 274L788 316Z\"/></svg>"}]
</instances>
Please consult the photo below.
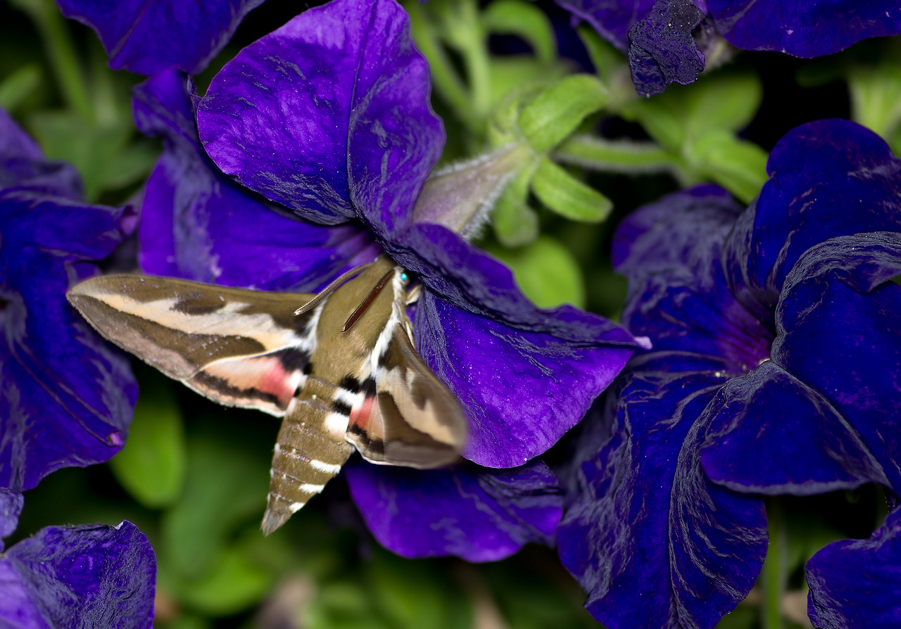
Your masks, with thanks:
<instances>
[{"instance_id":1,"label":"violet petal directly above the moth's outstretched left wing","mask_svg":"<svg viewBox=\"0 0 901 629\"><path fill-rule=\"evenodd\" d=\"M134 90L138 127L165 143L141 210L142 269L227 286L314 291L378 255L359 223L303 221L223 175L200 147L191 91L177 70Z\"/></svg>"}]
</instances>

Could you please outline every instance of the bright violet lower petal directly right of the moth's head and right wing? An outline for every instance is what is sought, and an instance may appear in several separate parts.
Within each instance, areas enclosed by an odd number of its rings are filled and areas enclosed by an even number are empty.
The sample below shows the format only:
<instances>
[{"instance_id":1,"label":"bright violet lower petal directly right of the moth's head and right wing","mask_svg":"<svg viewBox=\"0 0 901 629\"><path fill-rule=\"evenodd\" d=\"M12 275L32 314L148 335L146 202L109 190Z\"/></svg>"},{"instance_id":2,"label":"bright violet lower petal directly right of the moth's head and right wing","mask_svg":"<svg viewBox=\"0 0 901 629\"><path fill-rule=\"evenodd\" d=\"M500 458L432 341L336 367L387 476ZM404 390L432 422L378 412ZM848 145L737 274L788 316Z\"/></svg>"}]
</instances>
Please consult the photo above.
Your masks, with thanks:
<instances>
[{"instance_id":1,"label":"bright violet lower petal directly right of the moth's head and right wing","mask_svg":"<svg viewBox=\"0 0 901 629\"><path fill-rule=\"evenodd\" d=\"M469 418L462 454L479 465L522 465L560 440L632 356L629 348L523 332L423 291L416 348Z\"/></svg>"}]
</instances>

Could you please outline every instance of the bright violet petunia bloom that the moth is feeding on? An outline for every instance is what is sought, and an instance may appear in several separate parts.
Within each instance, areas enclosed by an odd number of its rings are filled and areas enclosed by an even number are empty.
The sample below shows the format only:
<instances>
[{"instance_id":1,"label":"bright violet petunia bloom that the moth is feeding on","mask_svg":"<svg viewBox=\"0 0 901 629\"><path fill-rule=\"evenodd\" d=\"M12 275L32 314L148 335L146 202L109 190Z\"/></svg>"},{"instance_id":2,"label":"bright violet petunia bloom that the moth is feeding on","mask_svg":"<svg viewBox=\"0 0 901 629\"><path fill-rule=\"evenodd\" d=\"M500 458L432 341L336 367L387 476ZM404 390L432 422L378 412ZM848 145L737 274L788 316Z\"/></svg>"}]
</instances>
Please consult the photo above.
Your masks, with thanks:
<instances>
[{"instance_id":1,"label":"bright violet petunia bloom that the moth is feeding on","mask_svg":"<svg viewBox=\"0 0 901 629\"><path fill-rule=\"evenodd\" d=\"M350 492L396 552L493 560L551 542L560 488L536 457L578 423L636 342L576 308L538 309L509 269L449 229L461 226L459 208L446 211L435 192L444 188L423 192L444 134L408 28L394 0L337 0L242 50L196 105L215 165L184 77L145 83L135 117L166 152L145 196L141 264L296 290L381 252L415 273L416 347L469 416L473 463L423 472L351 461ZM483 175L467 187L496 177Z\"/></svg>"}]
</instances>

